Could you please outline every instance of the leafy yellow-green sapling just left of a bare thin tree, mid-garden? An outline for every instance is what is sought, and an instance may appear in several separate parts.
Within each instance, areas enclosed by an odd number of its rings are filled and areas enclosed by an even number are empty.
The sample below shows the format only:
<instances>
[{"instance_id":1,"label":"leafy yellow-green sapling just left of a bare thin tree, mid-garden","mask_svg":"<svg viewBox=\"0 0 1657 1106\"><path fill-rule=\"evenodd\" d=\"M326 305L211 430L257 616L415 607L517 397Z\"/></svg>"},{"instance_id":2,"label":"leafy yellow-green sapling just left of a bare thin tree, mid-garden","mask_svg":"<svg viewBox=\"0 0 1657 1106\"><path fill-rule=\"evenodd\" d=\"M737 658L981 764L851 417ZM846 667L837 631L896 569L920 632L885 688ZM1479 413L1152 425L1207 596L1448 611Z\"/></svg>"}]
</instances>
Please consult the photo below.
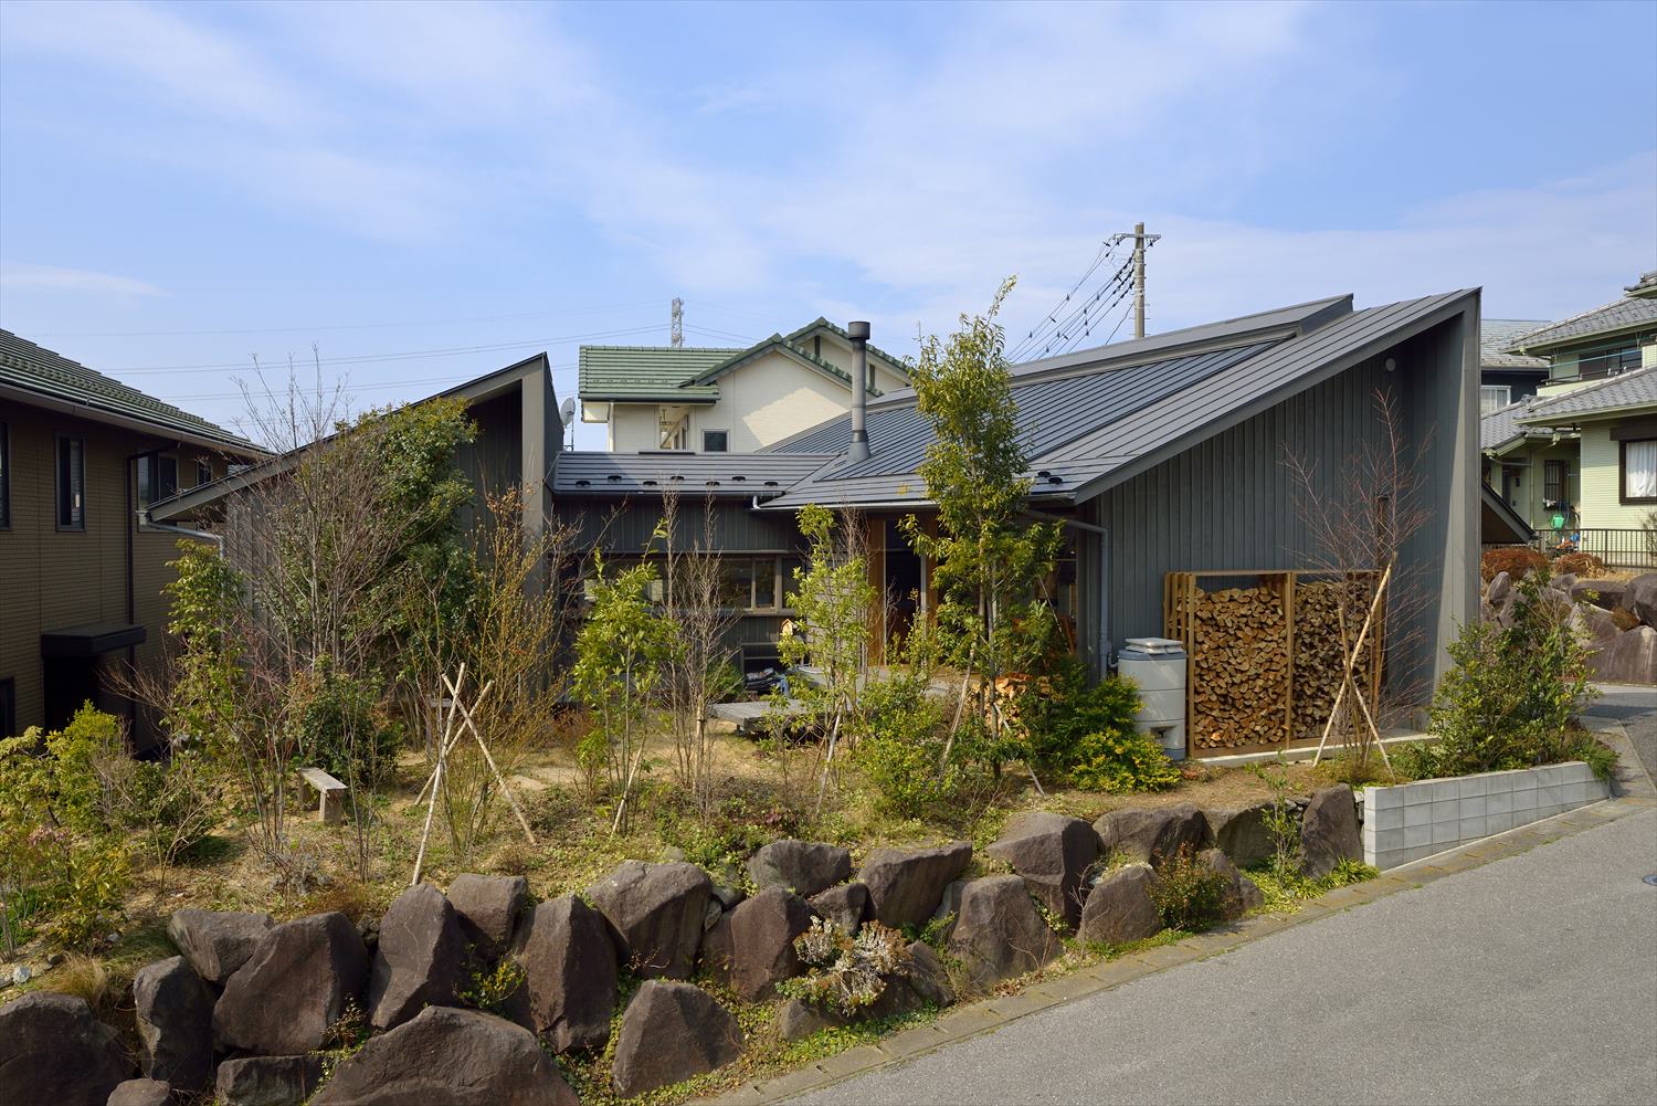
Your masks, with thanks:
<instances>
[{"instance_id":1,"label":"leafy yellow-green sapling just left of a bare thin tree, mid-garden","mask_svg":"<svg viewBox=\"0 0 1657 1106\"><path fill-rule=\"evenodd\" d=\"M597 723L580 756L605 766L616 796L611 832L628 827L628 799L650 746L651 698L673 648L673 628L650 602L655 579L648 564L608 577L595 554L592 610L575 638L575 693Z\"/></svg>"}]
</instances>

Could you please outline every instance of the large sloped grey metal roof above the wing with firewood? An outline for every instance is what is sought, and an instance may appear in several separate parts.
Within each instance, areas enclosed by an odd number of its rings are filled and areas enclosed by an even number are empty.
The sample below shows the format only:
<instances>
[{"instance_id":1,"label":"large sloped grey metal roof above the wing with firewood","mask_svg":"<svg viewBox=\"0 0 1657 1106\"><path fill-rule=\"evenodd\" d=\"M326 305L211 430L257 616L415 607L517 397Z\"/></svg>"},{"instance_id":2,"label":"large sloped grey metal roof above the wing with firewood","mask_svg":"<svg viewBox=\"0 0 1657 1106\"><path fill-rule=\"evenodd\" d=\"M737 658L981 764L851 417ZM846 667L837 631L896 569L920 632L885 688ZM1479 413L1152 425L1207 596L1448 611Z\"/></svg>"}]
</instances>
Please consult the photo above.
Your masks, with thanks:
<instances>
[{"instance_id":1,"label":"large sloped grey metal roof above the wing with firewood","mask_svg":"<svg viewBox=\"0 0 1657 1106\"><path fill-rule=\"evenodd\" d=\"M1347 313L1322 300L1304 305L1299 323L1278 320L1278 333L1261 330L1264 315L1244 317L1201 328L1200 340L1183 347L1135 342L1122 343L1130 347L1125 353L1102 347L1080 360L1067 355L1057 366L1021 366L1012 395L1029 424L1031 494L1060 501L1097 494L1452 317L1473 295L1448 292ZM911 391L870 406L868 438L868 459L827 464L766 506L926 502L916 468L933 434ZM847 416L772 451L840 454L848 441Z\"/></svg>"}]
</instances>

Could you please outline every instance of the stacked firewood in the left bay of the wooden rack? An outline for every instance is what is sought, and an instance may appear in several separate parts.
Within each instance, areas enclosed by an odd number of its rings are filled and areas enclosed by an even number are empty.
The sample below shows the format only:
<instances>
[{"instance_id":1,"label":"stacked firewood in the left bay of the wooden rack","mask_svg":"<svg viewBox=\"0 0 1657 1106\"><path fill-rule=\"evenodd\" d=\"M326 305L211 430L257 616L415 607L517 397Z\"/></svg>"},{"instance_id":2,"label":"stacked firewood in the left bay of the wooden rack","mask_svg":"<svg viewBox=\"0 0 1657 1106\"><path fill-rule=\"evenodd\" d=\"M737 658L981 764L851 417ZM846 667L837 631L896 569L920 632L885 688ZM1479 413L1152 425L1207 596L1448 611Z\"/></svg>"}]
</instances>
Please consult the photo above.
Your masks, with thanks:
<instances>
[{"instance_id":1,"label":"stacked firewood in the left bay of the wooden rack","mask_svg":"<svg viewBox=\"0 0 1657 1106\"><path fill-rule=\"evenodd\" d=\"M1283 741L1289 691L1287 612L1279 587L1185 597L1191 638L1191 738L1201 749Z\"/></svg>"}]
</instances>

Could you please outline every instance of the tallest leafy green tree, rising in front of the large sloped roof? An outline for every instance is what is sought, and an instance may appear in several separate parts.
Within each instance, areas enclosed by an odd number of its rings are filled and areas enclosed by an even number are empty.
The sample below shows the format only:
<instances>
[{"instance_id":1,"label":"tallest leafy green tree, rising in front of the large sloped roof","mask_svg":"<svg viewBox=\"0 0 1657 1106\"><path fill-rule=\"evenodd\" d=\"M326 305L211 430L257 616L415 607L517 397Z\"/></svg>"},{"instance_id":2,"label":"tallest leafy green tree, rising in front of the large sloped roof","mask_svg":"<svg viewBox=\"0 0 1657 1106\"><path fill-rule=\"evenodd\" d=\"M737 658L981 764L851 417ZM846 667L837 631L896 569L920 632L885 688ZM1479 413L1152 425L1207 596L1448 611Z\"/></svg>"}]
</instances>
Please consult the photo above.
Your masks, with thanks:
<instances>
[{"instance_id":1,"label":"tallest leafy green tree, rising in front of the large sloped roof","mask_svg":"<svg viewBox=\"0 0 1657 1106\"><path fill-rule=\"evenodd\" d=\"M913 516L905 527L916 551L938 565L938 622L963 668L944 758L969 696L974 720L999 741L1006 720L996 682L1041 657L1052 630L1052 612L1034 594L1052 570L1060 529L1026 517L1029 431L1019 426L1006 335L996 322L1012 284L1001 285L986 315L963 315L946 340L926 338L910 371L918 410L935 434L920 474L938 504L938 532L928 534Z\"/></svg>"}]
</instances>

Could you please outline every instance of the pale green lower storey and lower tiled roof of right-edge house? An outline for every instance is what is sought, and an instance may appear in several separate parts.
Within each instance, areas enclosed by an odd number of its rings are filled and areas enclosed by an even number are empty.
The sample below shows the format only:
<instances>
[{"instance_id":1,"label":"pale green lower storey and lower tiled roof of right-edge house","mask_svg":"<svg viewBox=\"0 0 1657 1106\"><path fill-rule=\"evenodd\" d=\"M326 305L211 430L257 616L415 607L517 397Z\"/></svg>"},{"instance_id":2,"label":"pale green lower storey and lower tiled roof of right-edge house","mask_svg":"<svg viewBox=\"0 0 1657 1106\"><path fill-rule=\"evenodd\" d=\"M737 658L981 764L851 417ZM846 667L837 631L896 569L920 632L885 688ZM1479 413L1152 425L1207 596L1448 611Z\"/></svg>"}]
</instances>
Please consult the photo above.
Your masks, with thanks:
<instances>
[{"instance_id":1,"label":"pale green lower storey and lower tiled roof of right-edge house","mask_svg":"<svg viewBox=\"0 0 1657 1106\"><path fill-rule=\"evenodd\" d=\"M1582 476L1576 509L1586 552L1645 551L1644 537L1630 532L1657 529L1657 365L1544 395L1514 423L1526 431L1546 426L1544 433L1566 428L1577 434ZM1617 531L1627 537L1619 541Z\"/></svg>"}]
</instances>

